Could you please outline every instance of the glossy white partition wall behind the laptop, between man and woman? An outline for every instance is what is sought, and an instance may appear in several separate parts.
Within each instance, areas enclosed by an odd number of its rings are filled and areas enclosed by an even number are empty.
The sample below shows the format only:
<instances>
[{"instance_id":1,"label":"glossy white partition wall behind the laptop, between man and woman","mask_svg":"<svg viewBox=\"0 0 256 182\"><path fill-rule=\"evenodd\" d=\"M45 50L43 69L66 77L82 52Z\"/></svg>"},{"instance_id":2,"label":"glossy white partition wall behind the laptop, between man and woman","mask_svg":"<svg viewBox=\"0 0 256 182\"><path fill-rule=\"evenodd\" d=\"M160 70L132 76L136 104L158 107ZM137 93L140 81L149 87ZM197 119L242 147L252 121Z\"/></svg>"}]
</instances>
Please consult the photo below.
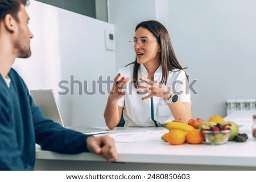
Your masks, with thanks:
<instances>
[{"instance_id":1,"label":"glossy white partition wall behind the laptop, between man and woman","mask_svg":"<svg viewBox=\"0 0 256 182\"><path fill-rule=\"evenodd\" d=\"M16 60L15 69L29 89L53 88L65 124L105 126L103 112L108 94L98 92L97 81L101 75L106 79L115 73L115 54L105 50L104 41L104 31L114 31L113 24L36 1L31 1L27 11L35 36L31 40L32 56ZM71 75L77 81L88 81L88 91L96 81L96 94L79 95L75 84L75 94L70 95ZM69 88L68 95L57 94L64 91L58 86L62 80L69 82L63 84ZM107 91L106 84L102 90Z\"/></svg>"}]
</instances>

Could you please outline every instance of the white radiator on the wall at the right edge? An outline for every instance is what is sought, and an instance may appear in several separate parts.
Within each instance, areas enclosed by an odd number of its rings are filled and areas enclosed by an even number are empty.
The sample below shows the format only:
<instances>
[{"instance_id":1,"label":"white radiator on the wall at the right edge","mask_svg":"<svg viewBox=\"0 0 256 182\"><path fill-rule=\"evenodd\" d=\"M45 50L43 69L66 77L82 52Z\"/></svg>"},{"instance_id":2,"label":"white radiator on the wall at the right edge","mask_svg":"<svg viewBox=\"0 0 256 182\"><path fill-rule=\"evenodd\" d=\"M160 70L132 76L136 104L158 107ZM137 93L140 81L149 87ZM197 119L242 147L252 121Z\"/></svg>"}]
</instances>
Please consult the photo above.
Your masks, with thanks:
<instances>
[{"instance_id":1,"label":"white radiator on the wall at the right edge","mask_svg":"<svg viewBox=\"0 0 256 182\"><path fill-rule=\"evenodd\" d=\"M226 113L230 115L234 111L253 111L256 110L255 104L255 99L228 99L226 100Z\"/></svg>"}]
</instances>

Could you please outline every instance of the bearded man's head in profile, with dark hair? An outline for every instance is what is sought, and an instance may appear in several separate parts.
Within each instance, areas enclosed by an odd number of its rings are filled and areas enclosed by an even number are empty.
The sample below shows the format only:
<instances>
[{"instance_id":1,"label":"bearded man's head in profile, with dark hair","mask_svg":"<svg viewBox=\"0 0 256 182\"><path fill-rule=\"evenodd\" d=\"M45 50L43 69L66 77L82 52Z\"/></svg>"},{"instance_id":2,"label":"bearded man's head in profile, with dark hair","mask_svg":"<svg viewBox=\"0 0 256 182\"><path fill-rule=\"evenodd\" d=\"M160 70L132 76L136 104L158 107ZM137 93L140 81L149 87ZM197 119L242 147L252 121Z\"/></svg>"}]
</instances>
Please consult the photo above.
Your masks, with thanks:
<instances>
[{"instance_id":1,"label":"bearded man's head in profile, with dark hair","mask_svg":"<svg viewBox=\"0 0 256 182\"><path fill-rule=\"evenodd\" d=\"M25 10L26 4L27 0L0 0L0 28L10 36L13 54L20 58L31 55L30 39L33 35L28 28L30 18Z\"/></svg>"}]
</instances>

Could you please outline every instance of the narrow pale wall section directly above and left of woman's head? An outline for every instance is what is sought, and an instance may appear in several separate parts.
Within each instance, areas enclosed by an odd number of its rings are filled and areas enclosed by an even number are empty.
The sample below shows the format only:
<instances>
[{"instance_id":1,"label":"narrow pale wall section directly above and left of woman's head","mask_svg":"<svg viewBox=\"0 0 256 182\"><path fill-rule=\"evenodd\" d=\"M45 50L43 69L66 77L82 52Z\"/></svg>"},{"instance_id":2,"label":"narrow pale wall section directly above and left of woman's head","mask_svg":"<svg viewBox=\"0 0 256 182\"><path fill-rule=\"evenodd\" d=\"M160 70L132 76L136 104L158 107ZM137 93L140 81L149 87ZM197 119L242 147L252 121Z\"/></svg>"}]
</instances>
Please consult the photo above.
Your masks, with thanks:
<instances>
[{"instance_id":1,"label":"narrow pale wall section directly above and left of woman's head","mask_svg":"<svg viewBox=\"0 0 256 182\"><path fill-rule=\"evenodd\" d=\"M109 22L115 26L117 69L135 61L134 49L128 41L133 39L138 23L155 19L155 11L155 0L109 0Z\"/></svg>"}]
</instances>

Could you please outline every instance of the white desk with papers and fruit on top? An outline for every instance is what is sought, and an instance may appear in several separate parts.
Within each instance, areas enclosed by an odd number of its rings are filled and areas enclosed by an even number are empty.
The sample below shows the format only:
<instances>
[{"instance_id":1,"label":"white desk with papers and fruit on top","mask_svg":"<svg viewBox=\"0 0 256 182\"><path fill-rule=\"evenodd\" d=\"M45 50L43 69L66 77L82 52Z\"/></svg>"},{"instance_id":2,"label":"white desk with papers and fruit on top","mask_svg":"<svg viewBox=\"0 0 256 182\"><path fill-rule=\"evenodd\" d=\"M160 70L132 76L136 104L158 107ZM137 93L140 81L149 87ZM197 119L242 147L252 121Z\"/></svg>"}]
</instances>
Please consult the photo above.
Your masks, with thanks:
<instances>
[{"instance_id":1,"label":"white desk with papers and fruit on top","mask_svg":"<svg viewBox=\"0 0 256 182\"><path fill-rule=\"evenodd\" d=\"M118 160L105 162L92 153L63 155L36 149L35 170L256 170L256 141L174 146L160 139L164 128L116 128L113 132L156 130L159 136L116 143Z\"/></svg>"}]
</instances>

